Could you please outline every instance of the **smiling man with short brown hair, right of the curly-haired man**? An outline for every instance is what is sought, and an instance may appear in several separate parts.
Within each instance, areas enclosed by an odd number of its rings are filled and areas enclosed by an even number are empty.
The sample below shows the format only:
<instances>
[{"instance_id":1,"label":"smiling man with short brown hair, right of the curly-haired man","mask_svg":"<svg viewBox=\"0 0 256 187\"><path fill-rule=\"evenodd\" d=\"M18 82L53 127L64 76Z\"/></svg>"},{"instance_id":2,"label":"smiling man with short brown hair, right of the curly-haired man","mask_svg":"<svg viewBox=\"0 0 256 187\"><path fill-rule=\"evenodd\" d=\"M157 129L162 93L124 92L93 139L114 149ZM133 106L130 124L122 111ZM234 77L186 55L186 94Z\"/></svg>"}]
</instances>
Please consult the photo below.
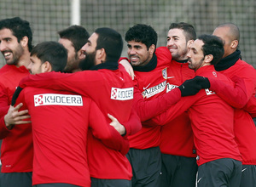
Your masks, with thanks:
<instances>
[{"instance_id":1,"label":"smiling man with short brown hair, right of the curly-haired man","mask_svg":"<svg viewBox=\"0 0 256 187\"><path fill-rule=\"evenodd\" d=\"M195 77L195 71L189 69L187 57L195 38L195 28L188 23L172 23L169 27L166 47L172 54L172 61L167 71L166 92ZM161 186L194 187L197 172L196 154L187 112L183 112L172 122L161 127L160 150L162 156Z\"/></svg>"}]
</instances>

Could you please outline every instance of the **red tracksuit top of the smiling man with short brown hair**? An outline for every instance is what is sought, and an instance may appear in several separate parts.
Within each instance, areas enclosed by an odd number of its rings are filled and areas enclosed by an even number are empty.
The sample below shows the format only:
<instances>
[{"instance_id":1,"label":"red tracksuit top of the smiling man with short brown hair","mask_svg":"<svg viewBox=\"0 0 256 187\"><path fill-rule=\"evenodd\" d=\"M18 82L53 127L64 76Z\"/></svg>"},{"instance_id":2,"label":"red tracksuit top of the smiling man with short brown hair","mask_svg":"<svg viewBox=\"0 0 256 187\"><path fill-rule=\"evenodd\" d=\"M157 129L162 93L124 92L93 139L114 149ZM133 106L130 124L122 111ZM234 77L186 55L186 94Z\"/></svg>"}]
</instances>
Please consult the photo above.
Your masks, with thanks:
<instances>
[{"instance_id":1,"label":"red tracksuit top of the smiling man with short brown hair","mask_svg":"<svg viewBox=\"0 0 256 187\"><path fill-rule=\"evenodd\" d=\"M195 77L195 71L189 69L188 63L172 59L167 71L167 92L177 88L184 81ZM177 116L172 122L161 127L160 150L174 156L195 157L195 144L188 112Z\"/></svg>"}]
</instances>

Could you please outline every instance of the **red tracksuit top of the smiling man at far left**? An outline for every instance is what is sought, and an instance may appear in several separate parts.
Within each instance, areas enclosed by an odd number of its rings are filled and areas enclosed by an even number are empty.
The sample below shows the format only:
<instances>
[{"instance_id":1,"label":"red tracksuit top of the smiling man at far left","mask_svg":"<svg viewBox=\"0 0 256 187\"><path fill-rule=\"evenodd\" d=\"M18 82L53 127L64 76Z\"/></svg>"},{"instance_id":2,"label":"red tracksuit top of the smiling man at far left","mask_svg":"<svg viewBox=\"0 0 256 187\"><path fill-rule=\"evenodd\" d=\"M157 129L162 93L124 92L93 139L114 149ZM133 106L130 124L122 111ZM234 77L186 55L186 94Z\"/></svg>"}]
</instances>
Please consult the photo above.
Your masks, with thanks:
<instances>
[{"instance_id":1,"label":"red tracksuit top of the smiling man at far left","mask_svg":"<svg viewBox=\"0 0 256 187\"><path fill-rule=\"evenodd\" d=\"M6 128L4 116L7 114L15 88L21 78L29 75L25 66L3 65L0 69L0 139L2 173L32 172L32 128L30 124ZM19 141L17 141L19 139Z\"/></svg>"}]
</instances>

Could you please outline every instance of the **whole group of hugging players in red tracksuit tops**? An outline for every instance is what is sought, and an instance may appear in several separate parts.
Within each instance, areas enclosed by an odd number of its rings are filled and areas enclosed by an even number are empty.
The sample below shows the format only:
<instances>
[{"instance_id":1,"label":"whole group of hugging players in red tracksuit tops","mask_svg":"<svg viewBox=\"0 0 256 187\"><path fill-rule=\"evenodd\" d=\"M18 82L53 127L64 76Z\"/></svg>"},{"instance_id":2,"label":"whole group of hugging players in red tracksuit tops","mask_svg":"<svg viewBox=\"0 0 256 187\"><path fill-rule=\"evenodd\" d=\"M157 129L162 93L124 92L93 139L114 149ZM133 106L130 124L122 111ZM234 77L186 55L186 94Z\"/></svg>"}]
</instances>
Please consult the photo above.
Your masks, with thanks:
<instances>
[{"instance_id":1,"label":"whole group of hugging players in red tracksuit tops","mask_svg":"<svg viewBox=\"0 0 256 187\"><path fill-rule=\"evenodd\" d=\"M32 46L29 22L0 20L0 187L256 185L256 71L227 23L166 47L137 24L59 31ZM127 73L128 72L128 73Z\"/></svg>"}]
</instances>

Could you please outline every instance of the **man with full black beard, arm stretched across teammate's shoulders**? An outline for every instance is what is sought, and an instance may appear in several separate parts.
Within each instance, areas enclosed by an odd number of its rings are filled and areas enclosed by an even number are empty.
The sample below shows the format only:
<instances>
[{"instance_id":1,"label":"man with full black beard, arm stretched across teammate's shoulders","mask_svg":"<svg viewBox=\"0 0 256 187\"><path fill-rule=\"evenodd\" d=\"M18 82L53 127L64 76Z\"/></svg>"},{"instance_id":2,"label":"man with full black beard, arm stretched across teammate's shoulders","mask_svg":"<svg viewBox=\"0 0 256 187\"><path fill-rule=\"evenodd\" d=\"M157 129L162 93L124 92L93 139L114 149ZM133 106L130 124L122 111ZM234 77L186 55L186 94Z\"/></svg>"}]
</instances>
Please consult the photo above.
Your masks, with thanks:
<instances>
[{"instance_id":1,"label":"man with full black beard, arm stretched across teammate's shoulders","mask_svg":"<svg viewBox=\"0 0 256 187\"><path fill-rule=\"evenodd\" d=\"M141 123L131 110L133 82L125 68L118 64L122 48L122 37L117 31L98 28L82 48L86 57L81 62L81 69L90 71L31 75L20 82L20 87L53 88L88 95L101 108L108 122L109 113L125 125L126 135L137 133ZM109 149L91 134L87 154L92 187L131 186L131 165L125 155Z\"/></svg>"}]
</instances>

